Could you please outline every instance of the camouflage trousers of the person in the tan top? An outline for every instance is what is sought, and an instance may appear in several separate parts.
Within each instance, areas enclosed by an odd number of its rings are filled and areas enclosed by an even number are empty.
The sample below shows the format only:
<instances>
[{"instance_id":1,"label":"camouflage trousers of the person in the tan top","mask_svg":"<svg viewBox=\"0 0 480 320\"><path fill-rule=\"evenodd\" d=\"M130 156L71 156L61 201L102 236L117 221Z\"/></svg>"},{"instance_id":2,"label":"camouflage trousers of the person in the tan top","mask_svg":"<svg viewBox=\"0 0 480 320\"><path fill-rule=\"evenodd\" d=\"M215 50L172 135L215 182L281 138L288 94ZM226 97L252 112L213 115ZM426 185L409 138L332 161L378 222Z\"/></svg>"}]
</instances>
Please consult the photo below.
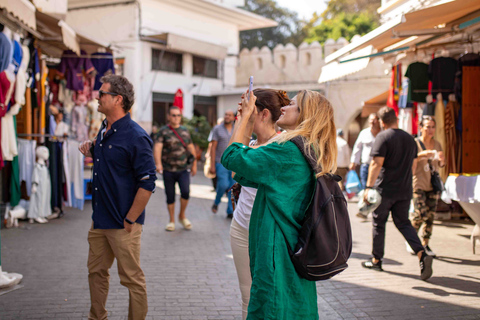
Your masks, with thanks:
<instances>
[{"instance_id":1,"label":"camouflage trousers of the person in the tan top","mask_svg":"<svg viewBox=\"0 0 480 320\"><path fill-rule=\"evenodd\" d=\"M418 232L423 225L423 238L430 239L432 236L433 220L437 208L439 194L434 191L415 190L413 192L413 205L415 211L410 216L412 226Z\"/></svg>"}]
</instances>

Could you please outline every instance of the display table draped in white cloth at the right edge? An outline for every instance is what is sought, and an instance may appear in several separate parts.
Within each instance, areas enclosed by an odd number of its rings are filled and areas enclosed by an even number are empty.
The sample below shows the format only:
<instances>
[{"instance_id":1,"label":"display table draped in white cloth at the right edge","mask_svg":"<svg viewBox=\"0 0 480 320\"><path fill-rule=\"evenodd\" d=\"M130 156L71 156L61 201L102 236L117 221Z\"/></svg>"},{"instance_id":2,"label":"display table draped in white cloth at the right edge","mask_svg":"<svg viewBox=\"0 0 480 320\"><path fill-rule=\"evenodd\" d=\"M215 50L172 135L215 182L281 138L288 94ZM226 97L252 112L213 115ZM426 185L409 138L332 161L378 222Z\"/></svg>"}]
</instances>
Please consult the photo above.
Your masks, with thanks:
<instances>
[{"instance_id":1,"label":"display table draped in white cloth at the right edge","mask_svg":"<svg viewBox=\"0 0 480 320\"><path fill-rule=\"evenodd\" d=\"M442 199L458 201L475 222L475 228L470 237L475 254L475 243L480 240L480 175L450 175L445 182Z\"/></svg>"}]
</instances>

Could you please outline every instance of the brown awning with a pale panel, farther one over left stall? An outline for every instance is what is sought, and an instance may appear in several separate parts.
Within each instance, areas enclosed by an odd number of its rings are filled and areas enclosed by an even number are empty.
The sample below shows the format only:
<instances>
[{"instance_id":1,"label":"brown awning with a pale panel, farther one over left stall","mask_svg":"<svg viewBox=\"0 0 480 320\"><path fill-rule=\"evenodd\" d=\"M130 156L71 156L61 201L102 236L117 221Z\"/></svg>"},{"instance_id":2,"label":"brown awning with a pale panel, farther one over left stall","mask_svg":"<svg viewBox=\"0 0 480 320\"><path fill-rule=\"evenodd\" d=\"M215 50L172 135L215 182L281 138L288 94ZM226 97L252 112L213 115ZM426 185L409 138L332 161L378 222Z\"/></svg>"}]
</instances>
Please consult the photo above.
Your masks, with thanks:
<instances>
[{"instance_id":1,"label":"brown awning with a pale panel, farther one over left stall","mask_svg":"<svg viewBox=\"0 0 480 320\"><path fill-rule=\"evenodd\" d=\"M80 54L80 50L92 53L108 47L78 34L65 21L51 15L37 11L36 18L37 31L40 33L38 43L49 56L61 57L63 51L68 49Z\"/></svg>"}]
</instances>

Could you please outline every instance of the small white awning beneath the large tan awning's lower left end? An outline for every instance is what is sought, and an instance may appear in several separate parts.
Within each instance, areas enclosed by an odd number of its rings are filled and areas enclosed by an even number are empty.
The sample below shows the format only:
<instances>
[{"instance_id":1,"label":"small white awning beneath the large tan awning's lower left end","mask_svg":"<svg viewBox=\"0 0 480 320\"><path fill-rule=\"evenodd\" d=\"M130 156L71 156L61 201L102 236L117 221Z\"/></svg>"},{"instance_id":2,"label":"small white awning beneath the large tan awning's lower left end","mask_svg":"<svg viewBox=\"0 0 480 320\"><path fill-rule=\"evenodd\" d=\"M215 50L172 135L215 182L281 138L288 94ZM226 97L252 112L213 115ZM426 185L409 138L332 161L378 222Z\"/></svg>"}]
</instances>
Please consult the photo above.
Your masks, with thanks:
<instances>
[{"instance_id":1,"label":"small white awning beneath the large tan awning's lower left end","mask_svg":"<svg viewBox=\"0 0 480 320\"><path fill-rule=\"evenodd\" d=\"M373 47L368 46L361 50L358 50L355 53L352 53L349 56L346 56L344 59L354 59L361 56L366 56L372 53ZM324 83L327 81L332 81L335 79L339 79L345 77L349 74L356 73L360 70L365 69L370 62L369 58L358 59L354 61L349 61L345 63L340 63L337 61L331 62L322 67L322 73L320 74L320 78L318 79L318 83Z\"/></svg>"}]
</instances>

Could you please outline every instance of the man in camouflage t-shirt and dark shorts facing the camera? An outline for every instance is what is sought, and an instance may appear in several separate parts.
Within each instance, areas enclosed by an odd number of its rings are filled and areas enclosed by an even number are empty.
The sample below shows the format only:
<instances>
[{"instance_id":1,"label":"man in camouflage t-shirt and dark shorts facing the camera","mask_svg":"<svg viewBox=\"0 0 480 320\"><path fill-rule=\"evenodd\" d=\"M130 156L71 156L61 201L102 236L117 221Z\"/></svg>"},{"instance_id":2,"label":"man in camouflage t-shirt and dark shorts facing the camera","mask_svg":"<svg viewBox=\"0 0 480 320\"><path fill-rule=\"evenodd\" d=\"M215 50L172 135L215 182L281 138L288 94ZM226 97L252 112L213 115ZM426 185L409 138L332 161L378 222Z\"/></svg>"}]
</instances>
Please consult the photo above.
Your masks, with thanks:
<instances>
[{"instance_id":1,"label":"man in camouflage t-shirt and dark shorts facing the camera","mask_svg":"<svg viewBox=\"0 0 480 320\"><path fill-rule=\"evenodd\" d=\"M197 174L195 147L187 128L181 126L180 108L171 107L168 112L168 125L163 126L155 137L154 157L157 172L163 174L163 184L167 196L167 209L170 220L165 227L175 231L175 184L180 187L180 212L178 221L190 230L192 223L185 216L190 197L190 174ZM191 163L190 163L191 161Z\"/></svg>"}]
</instances>

